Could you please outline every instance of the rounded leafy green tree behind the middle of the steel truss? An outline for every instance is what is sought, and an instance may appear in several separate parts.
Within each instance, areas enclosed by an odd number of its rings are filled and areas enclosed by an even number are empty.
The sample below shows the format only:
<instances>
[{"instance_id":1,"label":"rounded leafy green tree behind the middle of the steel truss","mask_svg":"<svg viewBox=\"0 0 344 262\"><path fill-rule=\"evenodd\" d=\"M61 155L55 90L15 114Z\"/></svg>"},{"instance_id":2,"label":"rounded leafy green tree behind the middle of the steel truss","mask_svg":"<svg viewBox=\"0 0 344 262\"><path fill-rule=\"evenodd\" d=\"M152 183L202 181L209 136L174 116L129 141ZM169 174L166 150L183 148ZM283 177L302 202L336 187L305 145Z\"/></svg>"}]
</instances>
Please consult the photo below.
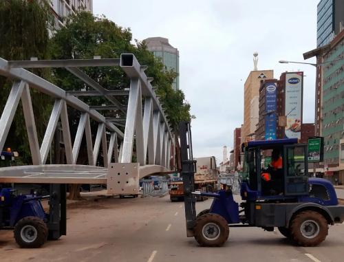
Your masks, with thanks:
<instances>
[{"instance_id":1,"label":"rounded leafy green tree behind the middle of the steel truss","mask_svg":"<svg viewBox=\"0 0 344 262\"><path fill-rule=\"evenodd\" d=\"M164 69L161 61L153 56L144 43L136 41L131 43L132 35L129 28L122 28L105 17L95 17L89 12L79 12L68 17L65 28L58 30L52 38L52 58L118 58L122 53L133 53L141 65L148 65L147 76L154 78L153 86L164 104L169 121L173 128L178 127L180 120L189 120L190 105L184 101L181 90L172 88L175 72ZM107 89L124 89L129 87L129 79L120 67L89 67L85 72L96 79L100 85ZM58 69L55 73L56 84L64 89L80 89L80 83L74 76ZM127 98L121 98L125 104ZM90 105L109 105L104 98L87 98L85 102ZM119 111L114 112L117 115Z\"/></svg>"}]
</instances>

